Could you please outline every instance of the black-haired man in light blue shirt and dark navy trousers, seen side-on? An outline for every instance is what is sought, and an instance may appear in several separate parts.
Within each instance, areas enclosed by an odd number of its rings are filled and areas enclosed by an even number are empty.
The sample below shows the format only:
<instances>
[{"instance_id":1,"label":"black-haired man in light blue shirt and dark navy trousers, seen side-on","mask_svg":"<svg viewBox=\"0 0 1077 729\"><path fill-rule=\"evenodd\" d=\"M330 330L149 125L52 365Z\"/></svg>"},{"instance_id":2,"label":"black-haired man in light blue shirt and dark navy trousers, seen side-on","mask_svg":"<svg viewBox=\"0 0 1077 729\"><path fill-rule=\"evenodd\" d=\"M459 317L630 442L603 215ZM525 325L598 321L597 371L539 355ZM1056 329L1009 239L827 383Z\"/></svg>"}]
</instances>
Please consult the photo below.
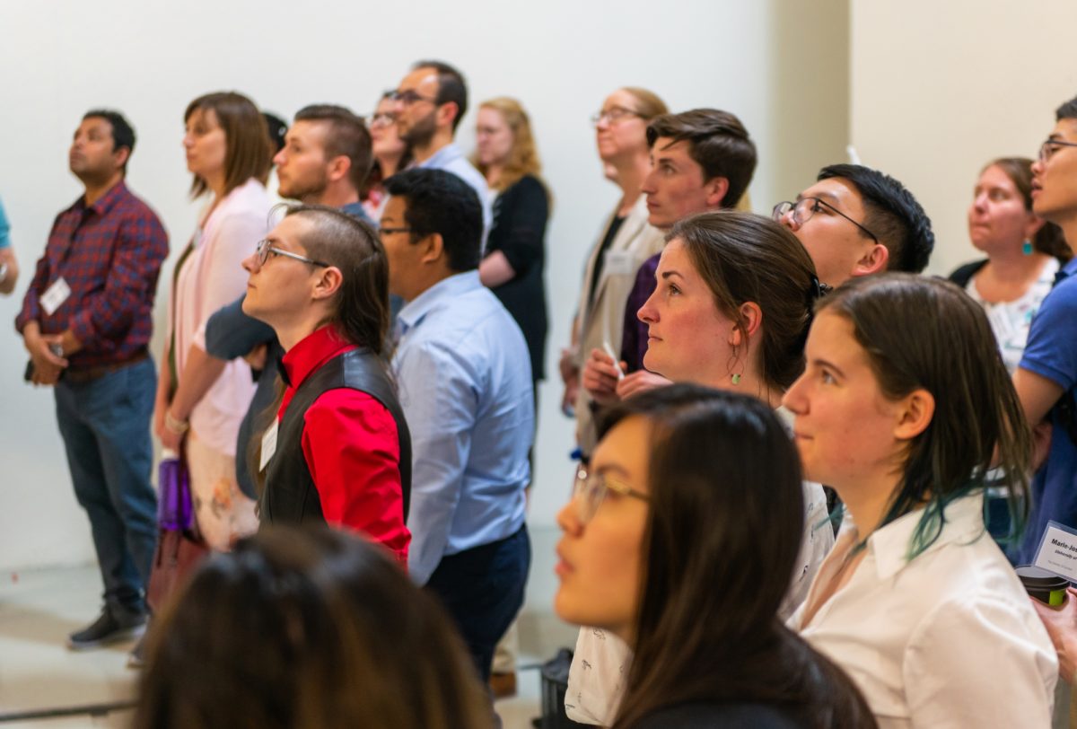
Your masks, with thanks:
<instances>
[{"instance_id":1,"label":"black-haired man in light blue shirt and dark navy trousers, seen side-on","mask_svg":"<svg viewBox=\"0 0 1077 729\"><path fill-rule=\"evenodd\" d=\"M530 355L515 320L479 281L475 192L431 169L400 172L386 186L389 291L407 302L392 366L415 461L408 564L449 609L488 679L531 561Z\"/></svg>"}]
</instances>

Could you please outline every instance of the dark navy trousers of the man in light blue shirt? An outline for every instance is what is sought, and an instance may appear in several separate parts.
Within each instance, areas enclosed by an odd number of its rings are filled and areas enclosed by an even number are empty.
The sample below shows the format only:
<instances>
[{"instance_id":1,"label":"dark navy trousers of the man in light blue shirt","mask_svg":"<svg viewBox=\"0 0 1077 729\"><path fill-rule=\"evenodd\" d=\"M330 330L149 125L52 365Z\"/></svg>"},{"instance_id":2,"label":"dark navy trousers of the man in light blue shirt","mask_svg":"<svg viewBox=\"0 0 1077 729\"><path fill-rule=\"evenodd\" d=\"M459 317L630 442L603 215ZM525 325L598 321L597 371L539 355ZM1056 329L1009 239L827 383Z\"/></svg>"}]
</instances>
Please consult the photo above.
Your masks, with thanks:
<instances>
[{"instance_id":1,"label":"dark navy trousers of the man in light blue shirt","mask_svg":"<svg viewBox=\"0 0 1077 729\"><path fill-rule=\"evenodd\" d=\"M482 681L493 649L523 604L531 569L527 527L500 542L442 558L426 583L449 611Z\"/></svg>"}]
</instances>

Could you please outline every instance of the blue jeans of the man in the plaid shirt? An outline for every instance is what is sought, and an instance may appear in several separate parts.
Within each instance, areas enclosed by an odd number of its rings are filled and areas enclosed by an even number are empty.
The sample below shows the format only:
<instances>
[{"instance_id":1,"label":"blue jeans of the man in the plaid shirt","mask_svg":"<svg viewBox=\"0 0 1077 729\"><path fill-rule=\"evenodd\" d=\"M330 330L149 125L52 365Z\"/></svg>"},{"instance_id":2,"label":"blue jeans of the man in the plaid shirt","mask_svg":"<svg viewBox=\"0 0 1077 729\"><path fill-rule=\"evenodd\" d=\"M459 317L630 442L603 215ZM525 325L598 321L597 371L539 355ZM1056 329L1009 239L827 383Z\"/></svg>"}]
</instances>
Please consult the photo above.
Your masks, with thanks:
<instances>
[{"instance_id":1,"label":"blue jeans of the man in the plaid shirt","mask_svg":"<svg viewBox=\"0 0 1077 729\"><path fill-rule=\"evenodd\" d=\"M113 615L145 612L157 542L157 494L150 483L153 362L89 382L56 383L56 420L79 505L89 516L94 548Z\"/></svg>"}]
</instances>

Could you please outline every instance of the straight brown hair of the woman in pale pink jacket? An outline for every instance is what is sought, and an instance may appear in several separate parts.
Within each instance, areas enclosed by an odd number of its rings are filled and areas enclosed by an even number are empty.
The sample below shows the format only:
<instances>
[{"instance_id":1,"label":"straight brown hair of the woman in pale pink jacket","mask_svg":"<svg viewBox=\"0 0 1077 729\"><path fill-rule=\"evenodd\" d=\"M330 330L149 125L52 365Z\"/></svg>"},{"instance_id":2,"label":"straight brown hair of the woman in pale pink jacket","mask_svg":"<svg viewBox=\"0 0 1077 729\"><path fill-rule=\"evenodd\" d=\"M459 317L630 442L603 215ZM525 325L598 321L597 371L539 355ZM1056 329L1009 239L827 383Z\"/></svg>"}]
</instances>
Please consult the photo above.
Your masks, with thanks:
<instances>
[{"instance_id":1,"label":"straight brown hair of the woman in pale pink jacket","mask_svg":"<svg viewBox=\"0 0 1077 729\"><path fill-rule=\"evenodd\" d=\"M224 194L254 178L265 184L272 164L272 142L265 117L254 102L236 92L216 92L199 96L187 104L183 122L196 111L212 111L224 130ZM197 174L191 182L191 195L198 197L209 185Z\"/></svg>"}]
</instances>

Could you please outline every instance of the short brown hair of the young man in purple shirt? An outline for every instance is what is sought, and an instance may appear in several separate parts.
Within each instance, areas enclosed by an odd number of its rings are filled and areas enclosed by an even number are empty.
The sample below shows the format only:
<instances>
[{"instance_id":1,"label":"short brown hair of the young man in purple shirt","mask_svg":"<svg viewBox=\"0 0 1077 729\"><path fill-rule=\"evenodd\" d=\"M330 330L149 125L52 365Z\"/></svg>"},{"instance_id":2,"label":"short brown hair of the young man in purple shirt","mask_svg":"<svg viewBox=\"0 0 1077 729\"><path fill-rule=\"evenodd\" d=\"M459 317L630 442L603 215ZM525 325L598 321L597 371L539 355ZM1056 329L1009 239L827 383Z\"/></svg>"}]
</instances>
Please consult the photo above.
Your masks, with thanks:
<instances>
[{"instance_id":1,"label":"short brown hair of the young man in purple shirt","mask_svg":"<svg viewBox=\"0 0 1077 729\"><path fill-rule=\"evenodd\" d=\"M693 109L662 114L647 125L647 145L659 138L671 143L688 142L688 156L703 168L703 180L725 178L729 182L723 208L736 208L755 173L755 142L741 121L727 111Z\"/></svg>"}]
</instances>

